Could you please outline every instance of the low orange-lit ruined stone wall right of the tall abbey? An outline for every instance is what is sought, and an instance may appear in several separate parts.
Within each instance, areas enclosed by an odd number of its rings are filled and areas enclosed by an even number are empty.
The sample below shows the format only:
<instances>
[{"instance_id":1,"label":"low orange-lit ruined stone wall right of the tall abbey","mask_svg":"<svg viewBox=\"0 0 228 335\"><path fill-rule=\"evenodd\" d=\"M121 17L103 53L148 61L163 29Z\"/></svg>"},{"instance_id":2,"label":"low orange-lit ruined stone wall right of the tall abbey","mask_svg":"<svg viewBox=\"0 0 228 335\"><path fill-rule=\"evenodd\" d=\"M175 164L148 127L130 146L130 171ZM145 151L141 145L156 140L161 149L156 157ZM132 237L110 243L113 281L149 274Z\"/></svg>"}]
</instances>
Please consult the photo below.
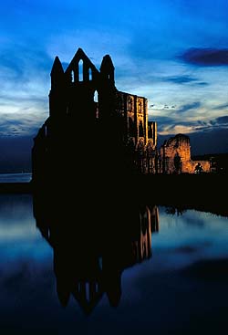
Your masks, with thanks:
<instances>
[{"instance_id":1,"label":"low orange-lit ruined stone wall right of the tall abbey","mask_svg":"<svg viewBox=\"0 0 228 335\"><path fill-rule=\"evenodd\" d=\"M210 173L210 161L193 161L191 159L190 138L177 134L164 141L160 150L161 173Z\"/></svg>"}]
</instances>

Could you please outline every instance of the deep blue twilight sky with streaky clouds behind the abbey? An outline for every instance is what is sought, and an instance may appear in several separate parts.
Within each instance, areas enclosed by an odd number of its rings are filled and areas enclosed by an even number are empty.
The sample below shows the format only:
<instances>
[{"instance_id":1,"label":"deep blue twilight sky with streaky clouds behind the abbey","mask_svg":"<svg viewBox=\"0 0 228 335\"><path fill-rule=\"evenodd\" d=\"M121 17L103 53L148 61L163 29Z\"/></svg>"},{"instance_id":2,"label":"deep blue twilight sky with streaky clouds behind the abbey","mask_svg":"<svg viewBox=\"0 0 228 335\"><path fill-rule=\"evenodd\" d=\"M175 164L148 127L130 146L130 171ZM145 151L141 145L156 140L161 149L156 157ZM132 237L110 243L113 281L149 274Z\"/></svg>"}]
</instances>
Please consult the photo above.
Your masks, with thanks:
<instances>
[{"instance_id":1,"label":"deep blue twilight sky with streaky clouds behind the abbey","mask_svg":"<svg viewBox=\"0 0 228 335\"><path fill-rule=\"evenodd\" d=\"M149 99L161 135L228 129L228 1L8 0L0 12L0 136L33 136L50 70L109 54L119 90Z\"/></svg>"}]
</instances>

